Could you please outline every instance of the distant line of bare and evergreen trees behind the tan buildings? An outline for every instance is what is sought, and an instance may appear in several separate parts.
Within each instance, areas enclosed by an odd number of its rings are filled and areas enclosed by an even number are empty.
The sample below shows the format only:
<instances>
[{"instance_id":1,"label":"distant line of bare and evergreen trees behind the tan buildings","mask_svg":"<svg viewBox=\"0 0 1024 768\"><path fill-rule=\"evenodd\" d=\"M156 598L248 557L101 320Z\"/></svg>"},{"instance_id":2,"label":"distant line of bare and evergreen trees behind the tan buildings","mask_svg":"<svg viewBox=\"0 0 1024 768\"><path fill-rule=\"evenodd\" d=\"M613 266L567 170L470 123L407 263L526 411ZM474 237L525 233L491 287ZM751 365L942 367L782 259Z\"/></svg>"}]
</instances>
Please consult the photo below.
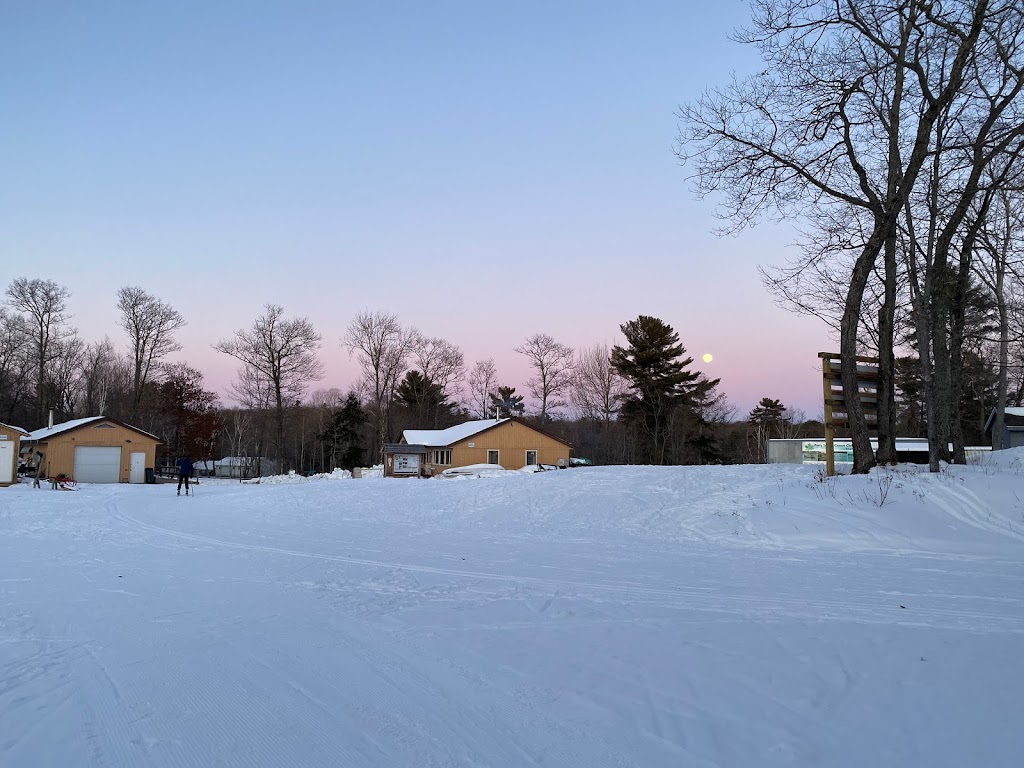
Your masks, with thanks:
<instances>
[{"instance_id":1,"label":"distant line of bare and evergreen trees behind the tan buildings","mask_svg":"<svg viewBox=\"0 0 1024 768\"><path fill-rule=\"evenodd\" d=\"M466 419L522 418L569 441L596 463L718 464L766 461L772 437L817 437L822 425L764 397L745 416L720 380L692 369L679 334L664 321L621 326L623 341L572 349L548 334L516 351L529 361L531 397L502 383L493 358L468 366L458 345L404 325L394 314L357 314L337 340L359 365L348 391L314 389L324 377L322 335L304 317L269 304L252 324L218 341L238 361L223 407L203 374L168 359L180 350L184 318L137 287L118 291L119 349L110 338L86 343L71 324L70 293L50 281L18 278L0 307L0 420L27 428L104 415L160 437L161 456L266 457L275 470L331 471L378 462L404 429L442 429ZM979 346L958 416L971 444L982 438L997 401L998 365ZM896 415L900 434L924 436L926 408L918 367L900 358ZM1024 383L1014 379L1014 398Z\"/></svg>"}]
</instances>

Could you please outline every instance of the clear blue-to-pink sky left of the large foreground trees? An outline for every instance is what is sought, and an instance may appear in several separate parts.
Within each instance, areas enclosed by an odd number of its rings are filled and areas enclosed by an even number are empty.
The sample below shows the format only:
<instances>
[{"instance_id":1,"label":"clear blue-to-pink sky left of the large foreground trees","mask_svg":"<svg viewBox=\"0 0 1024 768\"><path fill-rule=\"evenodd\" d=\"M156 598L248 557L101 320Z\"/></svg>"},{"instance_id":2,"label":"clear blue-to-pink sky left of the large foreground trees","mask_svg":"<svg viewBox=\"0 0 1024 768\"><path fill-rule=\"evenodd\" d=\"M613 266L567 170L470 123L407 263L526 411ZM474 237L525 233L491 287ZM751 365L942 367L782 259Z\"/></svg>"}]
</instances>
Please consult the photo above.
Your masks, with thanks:
<instances>
[{"instance_id":1,"label":"clear blue-to-pink sky left of the large foreground trees","mask_svg":"<svg viewBox=\"0 0 1024 768\"><path fill-rule=\"evenodd\" d=\"M0 263L55 280L90 341L140 285L189 325L182 360L273 302L339 339L386 309L494 357L673 325L740 411L820 411L825 329L758 264L792 233L711 234L672 153L674 111L756 67L743 3L0 3ZM715 360L699 362L703 352Z\"/></svg>"}]
</instances>

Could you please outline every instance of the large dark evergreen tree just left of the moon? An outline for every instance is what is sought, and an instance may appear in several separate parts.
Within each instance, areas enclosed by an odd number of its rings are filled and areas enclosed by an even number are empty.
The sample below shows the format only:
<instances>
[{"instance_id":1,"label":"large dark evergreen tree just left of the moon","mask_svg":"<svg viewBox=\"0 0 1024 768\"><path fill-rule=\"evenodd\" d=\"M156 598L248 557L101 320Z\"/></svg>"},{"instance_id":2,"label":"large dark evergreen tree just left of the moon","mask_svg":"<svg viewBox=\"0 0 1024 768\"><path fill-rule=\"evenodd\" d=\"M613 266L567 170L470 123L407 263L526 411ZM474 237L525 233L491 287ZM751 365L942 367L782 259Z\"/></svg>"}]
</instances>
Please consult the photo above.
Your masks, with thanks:
<instances>
[{"instance_id":1,"label":"large dark evergreen tree just left of the moon","mask_svg":"<svg viewBox=\"0 0 1024 768\"><path fill-rule=\"evenodd\" d=\"M622 419L641 436L638 456L650 464L669 464L669 439L680 409L692 412L718 379L687 370L692 357L679 334L657 317L641 314L620 326L629 346L611 349L611 366L629 385Z\"/></svg>"}]
</instances>

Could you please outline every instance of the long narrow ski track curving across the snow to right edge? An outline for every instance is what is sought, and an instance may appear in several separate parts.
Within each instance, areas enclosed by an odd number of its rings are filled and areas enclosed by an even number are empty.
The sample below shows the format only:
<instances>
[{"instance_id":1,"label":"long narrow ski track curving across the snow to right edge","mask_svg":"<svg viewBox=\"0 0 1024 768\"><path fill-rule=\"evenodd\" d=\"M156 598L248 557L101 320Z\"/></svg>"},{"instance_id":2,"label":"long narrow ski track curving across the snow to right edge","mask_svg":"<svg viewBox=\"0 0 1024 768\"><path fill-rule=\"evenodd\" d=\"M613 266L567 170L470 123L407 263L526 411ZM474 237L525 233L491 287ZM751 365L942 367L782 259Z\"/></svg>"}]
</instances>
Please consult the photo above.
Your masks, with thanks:
<instances>
[{"instance_id":1,"label":"long narrow ski track curving across the snow to right edge","mask_svg":"<svg viewBox=\"0 0 1024 768\"><path fill-rule=\"evenodd\" d=\"M433 565L402 563L386 560L373 560L344 555L329 555L299 550L282 549L264 545L244 544L214 539L198 534L188 534L173 528L152 525L142 522L123 512L114 513L123 522L138 528L185 541L193 541L213 547L236 549L248 552L266 552L291 557L303 557L328 562L342 562L353 565L365 565L374 568L401 569L421 573L449 575L459 579L477 579L507 584L534 585L549 590L564 591L566 589L581 592L595 591L607 594L627 595L631 599L649 598L656 600L666 607L683 609L699 609L712 612L755 614L770 618L773 613L809 618L825 618L835 621L853 621L866 624L901 624L907 626L943 626L950 629L969 631L1002 631L1024 633L1024 617L1012 616L985 611L957 610L953 608L915 607L911 612L895 608L892 603L882 599L873 603L851 602L843 600L825 600L820 598L807 599L803 597L785 597L773 595L741 595L723 594L710 590L694 590L678 587L674 589L657 589L637 587L616 582L573 582L566 580L544 579L541 577L512 575L460 568L442 568ZM562 595L570 597L573 595ZM574 596L586 596L578 594ZM938 596L937 596L938 597ZM666 600L668 598L668 600ZM727 604L730 607L724 607ZM745 608L745 610L744 610ZM926 621L929 620L929 621Z\"/></svg>"}]
</instances>

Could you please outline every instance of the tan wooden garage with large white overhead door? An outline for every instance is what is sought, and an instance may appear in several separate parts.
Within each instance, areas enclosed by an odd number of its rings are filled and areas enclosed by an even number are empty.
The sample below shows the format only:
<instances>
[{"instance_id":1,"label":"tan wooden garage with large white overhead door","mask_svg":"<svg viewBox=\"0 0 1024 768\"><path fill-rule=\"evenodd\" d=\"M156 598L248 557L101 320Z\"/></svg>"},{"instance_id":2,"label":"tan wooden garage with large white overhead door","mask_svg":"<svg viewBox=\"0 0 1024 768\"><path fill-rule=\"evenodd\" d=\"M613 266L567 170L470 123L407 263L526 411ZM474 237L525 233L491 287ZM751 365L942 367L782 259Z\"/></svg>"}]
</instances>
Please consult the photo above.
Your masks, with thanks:
<instances>
[{"instance_id":1,"label":"tan wooden garage with large white overhead door","mask_svg":"<svg viewBox=\"0 0 1024 768\"><path fill-rule=\"evenodd\" d=\"M91 416L37 429L24 440L43 455L47 477L76 482L145 482L156 466L161 439L105 416Z\"/></svg>"}]
</instances>

